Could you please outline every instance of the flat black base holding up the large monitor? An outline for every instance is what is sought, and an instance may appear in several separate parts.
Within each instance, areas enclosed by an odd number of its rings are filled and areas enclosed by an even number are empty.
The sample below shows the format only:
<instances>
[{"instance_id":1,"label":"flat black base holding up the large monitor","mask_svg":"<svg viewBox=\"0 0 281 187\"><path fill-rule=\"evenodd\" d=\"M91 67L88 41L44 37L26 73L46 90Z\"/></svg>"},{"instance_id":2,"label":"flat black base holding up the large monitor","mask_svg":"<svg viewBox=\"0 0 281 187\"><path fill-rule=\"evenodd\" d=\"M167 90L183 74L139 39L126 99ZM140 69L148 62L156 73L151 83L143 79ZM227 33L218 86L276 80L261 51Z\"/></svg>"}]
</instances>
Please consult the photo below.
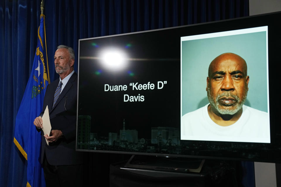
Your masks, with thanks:
<instances>
[{"instance_id":1,"label":"flat black base holding up the large monitor","mask_svg":"<svg viewBox=\"0 0 281 187\"><path fill-rule=\"evenodd\" d=\"M197 158L132 155L124 167L166 172L200 173L204 162L205 159Z\"/></svg>"}]
</instances>

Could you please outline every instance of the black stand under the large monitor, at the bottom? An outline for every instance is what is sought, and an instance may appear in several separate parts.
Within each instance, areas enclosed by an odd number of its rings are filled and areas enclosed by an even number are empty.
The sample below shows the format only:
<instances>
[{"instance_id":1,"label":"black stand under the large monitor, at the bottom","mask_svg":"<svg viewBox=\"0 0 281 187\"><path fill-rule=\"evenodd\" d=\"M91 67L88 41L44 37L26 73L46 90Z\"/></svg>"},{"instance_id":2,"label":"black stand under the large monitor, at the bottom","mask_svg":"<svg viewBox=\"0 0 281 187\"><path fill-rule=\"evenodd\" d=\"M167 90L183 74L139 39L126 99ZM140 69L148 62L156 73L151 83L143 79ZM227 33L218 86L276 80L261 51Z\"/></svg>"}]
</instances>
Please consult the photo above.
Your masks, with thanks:
<instances>
[{"instance_id":1,"label":"black stand under the large monitor, at the bottom","mask_svg":"<svg viewBox=\"0 0 281 187\"><path fill-rule=\"evenodd\" d=\"M110 166L111 187L237 187L232 161L133 155ZM200 168L200 172L192 172Z\"/></svg>"}]
</instances>

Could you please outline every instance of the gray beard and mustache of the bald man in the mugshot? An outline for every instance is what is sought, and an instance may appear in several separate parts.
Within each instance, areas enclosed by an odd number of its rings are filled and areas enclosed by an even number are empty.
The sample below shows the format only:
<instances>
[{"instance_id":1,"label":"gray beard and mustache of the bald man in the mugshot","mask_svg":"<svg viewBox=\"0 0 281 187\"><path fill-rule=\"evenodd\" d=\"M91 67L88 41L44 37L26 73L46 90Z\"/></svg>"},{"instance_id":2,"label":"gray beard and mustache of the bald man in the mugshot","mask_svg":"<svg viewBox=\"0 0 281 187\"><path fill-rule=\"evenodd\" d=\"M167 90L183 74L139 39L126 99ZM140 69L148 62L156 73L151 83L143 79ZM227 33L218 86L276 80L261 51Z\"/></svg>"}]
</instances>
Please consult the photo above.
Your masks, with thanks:
<instances>
[{"instance_id":1,"label":"gray beard and mustache of the bald man in the mugshot","mask_svg":"<svg viewBox=\"0 0 281 187\"><path fill-rule=\"evenodd\" d=\"M242 101L240 100L240 98L238 96L233 95L230 92L224 92L224 93L218 94L217 97L214 100L213 97L211 96L211 91L210 91L209 86L208 86L208 90L207 90L207 96L208 96L208 100L210 102L210 105L212 105L213 108L215 110L217 110L218 113L234 115L242 108L242 106L244 105L244 103L246 101L246 98L247 98L247 91L246 90L245 90L244 96L242 97ZM232 106L232 108L220 108L221 105L219 103L219 99L222 98L222 97L233 97L237 102L233 105L230 105L230 106Z\"/></svg>"}]
</instances>

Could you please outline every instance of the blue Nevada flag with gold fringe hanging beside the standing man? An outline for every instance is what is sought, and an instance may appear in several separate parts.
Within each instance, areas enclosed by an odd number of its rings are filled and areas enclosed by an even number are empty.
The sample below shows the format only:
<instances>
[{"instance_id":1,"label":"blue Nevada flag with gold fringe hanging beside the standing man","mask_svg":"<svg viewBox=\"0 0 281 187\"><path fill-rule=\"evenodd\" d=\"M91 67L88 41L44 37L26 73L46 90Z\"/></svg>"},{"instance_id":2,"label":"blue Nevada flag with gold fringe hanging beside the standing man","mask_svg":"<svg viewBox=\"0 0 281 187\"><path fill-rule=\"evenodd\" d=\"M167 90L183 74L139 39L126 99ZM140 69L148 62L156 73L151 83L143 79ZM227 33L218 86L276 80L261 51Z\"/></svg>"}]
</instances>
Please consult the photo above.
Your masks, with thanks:
<instances>
[{"instance_id":1,"label":"blue Nevada flag with gold fringe hanging beside the standing man","mask_svg":"<svg viewBox=\"0 0 281 187\"><path fill-rule=\"evenodd\" d=\"M44 42L44 15L41 14L32 71L16 116L14 134L14 143L27 160L28 187L45 186L44 172L40 164L41 135L33 124L35 117L42 111L49 84L48 63L44 60Z\"/></svg>"}]
</instances>

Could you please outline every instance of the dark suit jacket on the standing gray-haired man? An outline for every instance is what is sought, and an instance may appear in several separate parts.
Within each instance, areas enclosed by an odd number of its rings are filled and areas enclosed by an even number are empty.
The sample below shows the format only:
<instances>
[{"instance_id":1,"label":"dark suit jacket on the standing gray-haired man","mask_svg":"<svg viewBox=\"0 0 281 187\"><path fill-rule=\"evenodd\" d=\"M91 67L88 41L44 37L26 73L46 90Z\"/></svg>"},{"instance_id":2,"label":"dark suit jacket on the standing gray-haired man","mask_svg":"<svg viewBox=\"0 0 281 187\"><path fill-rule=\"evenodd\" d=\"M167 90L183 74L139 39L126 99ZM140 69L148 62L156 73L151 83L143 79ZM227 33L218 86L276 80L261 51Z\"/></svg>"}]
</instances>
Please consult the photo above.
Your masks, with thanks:
<instances>
[{"instance_id":1,"label":"dark suit jacket on the standing gray-haired man","mask_svg":"<svg viewBox=\"0 0 281 187\"><path fill-rule=\"evenodd\" d=\"M47 86L43 112L40 115L43 115L48 105L52 130L61 130L64 136L54 143L49 143L48 146L42 133L41 163L43 163L44 153L50 165L82 163L82 153L75 151L77 79L77 74L74 73L64 86L53 108L54 93L59 84L59 79Z\"/></svg>"}]
</instances>

